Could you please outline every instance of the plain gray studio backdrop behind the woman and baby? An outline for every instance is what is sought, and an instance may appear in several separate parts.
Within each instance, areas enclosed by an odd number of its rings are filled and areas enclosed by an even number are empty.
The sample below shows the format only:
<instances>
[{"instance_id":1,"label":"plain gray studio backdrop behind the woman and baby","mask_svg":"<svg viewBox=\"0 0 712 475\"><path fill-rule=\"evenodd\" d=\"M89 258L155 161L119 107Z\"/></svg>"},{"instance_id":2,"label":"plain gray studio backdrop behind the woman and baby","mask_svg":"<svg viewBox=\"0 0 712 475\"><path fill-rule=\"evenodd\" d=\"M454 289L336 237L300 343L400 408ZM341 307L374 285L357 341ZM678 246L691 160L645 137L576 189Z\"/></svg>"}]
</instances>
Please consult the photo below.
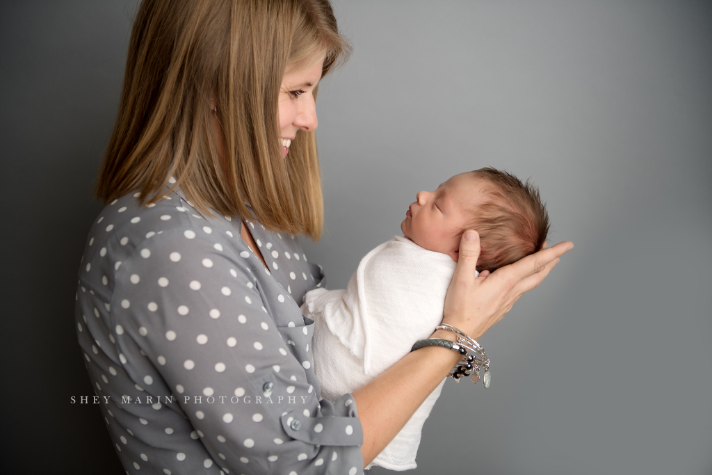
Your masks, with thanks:
<instances>
[{"instance_id":1,"label":"plain gray studio backdrop behind the woman and baby","mask_svg":"<svg viewBox=\"0 0 712 475\"><path fill-rule=\"evenodd\" d=\"M135 0L0 4L4 473L122 473L72 324ZM712 474L712 6L335 0L320 88L332 288L420 189L486 165L576 249L448 382L412 474ZM384 470L376 470L384 473Z\"/></svg>"}]
</instances>

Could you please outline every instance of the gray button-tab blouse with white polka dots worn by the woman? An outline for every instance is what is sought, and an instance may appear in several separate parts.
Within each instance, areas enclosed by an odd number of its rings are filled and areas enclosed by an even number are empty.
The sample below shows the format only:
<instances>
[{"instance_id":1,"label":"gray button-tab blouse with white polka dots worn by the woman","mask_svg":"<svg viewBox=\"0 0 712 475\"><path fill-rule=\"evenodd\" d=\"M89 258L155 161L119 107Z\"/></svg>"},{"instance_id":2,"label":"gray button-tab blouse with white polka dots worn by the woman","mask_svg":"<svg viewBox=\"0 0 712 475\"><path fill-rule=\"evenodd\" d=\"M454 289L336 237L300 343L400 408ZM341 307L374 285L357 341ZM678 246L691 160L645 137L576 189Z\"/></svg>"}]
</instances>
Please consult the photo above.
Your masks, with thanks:
<instances>
[{"instance_id":1,"label":"gray button-tab blouse with white polka dots worn by the woman","mask_svg":"<svg viewBox=\"0 0 712 475\"><path fill-rule=\"evenodd\" d=\"M268 271L239 219L201 216L182 192L150 207L138 196L96 219L75 308L127 474L362 474L356 404L320 401L297 304L320 267L249 222Z\"/></svg>"}]
</instances>

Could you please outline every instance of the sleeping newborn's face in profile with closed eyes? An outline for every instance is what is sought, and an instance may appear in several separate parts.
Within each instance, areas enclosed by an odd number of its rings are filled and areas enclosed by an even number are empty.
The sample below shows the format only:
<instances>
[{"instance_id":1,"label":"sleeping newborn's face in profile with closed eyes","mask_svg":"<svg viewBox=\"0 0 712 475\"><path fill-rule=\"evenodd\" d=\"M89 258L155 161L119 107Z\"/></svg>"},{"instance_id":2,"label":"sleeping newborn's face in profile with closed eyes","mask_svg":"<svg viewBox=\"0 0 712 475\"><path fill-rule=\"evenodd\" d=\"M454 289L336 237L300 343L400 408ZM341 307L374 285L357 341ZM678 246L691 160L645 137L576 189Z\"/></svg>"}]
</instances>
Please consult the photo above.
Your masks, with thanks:
<instances>
[{"instance_id":1,"label":"sleeping newborn's face in profile with closed eyes","mask_svg":"<svg viewBox=\"0 0 712 475\"><path fill-rule=\"evenodd\" d=\"M429 251L458 260L460 231L481 200L481 186L472 172L457 174L434 192L419 192L401 223L403 235Z\"/></svg>"}]
</instances>

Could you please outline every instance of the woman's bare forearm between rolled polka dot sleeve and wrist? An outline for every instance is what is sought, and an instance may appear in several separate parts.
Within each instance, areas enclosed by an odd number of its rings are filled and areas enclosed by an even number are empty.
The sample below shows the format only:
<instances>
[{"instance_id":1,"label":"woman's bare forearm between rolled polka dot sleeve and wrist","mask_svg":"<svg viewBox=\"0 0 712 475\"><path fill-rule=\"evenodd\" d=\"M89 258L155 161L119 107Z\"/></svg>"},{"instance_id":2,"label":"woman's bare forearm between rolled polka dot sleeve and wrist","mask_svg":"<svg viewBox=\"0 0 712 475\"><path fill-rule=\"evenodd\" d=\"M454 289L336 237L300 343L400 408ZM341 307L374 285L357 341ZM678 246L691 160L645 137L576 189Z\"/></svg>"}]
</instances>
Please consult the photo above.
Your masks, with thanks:
<instances>
[{"instance_id":1,"label":"woman's bare forearm between rolled polka dot sleeve and wrist","mask_svg":"<svg viewBox=\"0 0 712 475\"><path fill-rule=\"evenodd\" d=\"M444 330L437 330L431 338L454 340L453 333ZM353 393L366 465L391 442L460 358L459 353L444 348L421 348Z\"/></svg>"}]
</instances>

